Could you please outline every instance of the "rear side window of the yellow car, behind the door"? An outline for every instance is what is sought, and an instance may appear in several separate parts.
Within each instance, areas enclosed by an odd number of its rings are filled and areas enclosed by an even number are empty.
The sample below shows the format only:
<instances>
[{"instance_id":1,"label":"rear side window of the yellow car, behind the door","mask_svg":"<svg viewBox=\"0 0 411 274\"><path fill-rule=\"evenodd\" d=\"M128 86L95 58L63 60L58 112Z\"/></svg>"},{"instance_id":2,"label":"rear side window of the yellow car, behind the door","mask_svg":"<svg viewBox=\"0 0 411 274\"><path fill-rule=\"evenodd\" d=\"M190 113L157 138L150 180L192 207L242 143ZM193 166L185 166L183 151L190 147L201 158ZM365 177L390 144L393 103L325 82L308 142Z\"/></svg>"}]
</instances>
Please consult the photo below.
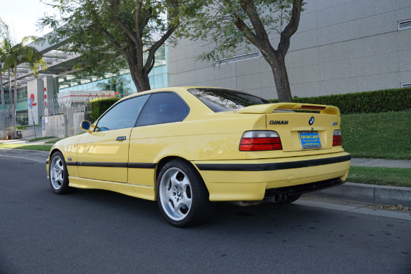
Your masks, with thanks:
<instances>
[{"instance_id":1,"label":"rear side window of the yellow car, behind the door","mask_svg":"<svg viewBox=\"0 0 411 274\"><path fill-rule=\"evenodd\" d=\"M175 93L153 93L137 121L140 125L156 125L183 121L190 112L186 103Z\"/></svg>"}]
</instances>

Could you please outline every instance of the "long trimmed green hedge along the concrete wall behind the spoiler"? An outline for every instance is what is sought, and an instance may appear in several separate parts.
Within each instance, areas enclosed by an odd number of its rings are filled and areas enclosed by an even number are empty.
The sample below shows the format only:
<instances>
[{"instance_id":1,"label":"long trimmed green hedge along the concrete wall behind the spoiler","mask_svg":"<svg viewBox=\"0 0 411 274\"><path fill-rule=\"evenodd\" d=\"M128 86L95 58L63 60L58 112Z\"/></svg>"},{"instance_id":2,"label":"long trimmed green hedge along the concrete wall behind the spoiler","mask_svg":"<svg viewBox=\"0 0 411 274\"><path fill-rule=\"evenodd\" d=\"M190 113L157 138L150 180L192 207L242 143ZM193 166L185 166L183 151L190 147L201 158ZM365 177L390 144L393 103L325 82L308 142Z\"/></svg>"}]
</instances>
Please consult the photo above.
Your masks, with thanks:
<instances>
[{"instance_id":1,"label":"long trimmed green hedge along the concrete wall behind the spoiler","mask_svg":"<svg viewBox=\"0 0 411 274\"><path fill-rule=\"evenodd\" d=\"M270 101L278 103L277 99ZM395 88L319 97L295 97L292 101L295 103L335 105L342 114L401 111L411 109L411 88Z\"/></svg>"}]
</instances>

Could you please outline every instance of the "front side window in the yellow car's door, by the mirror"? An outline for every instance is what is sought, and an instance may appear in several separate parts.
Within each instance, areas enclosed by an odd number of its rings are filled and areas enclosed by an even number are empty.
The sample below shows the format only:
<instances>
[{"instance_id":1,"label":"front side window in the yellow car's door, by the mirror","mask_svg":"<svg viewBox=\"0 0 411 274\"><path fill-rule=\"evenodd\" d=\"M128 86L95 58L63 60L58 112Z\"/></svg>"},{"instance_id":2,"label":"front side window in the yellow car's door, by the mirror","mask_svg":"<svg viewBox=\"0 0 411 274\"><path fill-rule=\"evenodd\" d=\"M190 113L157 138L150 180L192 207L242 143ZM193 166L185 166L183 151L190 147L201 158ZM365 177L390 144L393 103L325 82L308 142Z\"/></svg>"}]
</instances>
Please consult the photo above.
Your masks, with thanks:
<instances>
[{"instance_id":1,"label":"front side window in the yellow car's door, by the mirror","mask_svg":"<svg viewBox=\"0 0 411 274\"><path fill-rule=\"evenodd\" d=\"M149 95L133 97L114 105L97 123L95 132L134 127Z\"/></svg>"}]
</instances>

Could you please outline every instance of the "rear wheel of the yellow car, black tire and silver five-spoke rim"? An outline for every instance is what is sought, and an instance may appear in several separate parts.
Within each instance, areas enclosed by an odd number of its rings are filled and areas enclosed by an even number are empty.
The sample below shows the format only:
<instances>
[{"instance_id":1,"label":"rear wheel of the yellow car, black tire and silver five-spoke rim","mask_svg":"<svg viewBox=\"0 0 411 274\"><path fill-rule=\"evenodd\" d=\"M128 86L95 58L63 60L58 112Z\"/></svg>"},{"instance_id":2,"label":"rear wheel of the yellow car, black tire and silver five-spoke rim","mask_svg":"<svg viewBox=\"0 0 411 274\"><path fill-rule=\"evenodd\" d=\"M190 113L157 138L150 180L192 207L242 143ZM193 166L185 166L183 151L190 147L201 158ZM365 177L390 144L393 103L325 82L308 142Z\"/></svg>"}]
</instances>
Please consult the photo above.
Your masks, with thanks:
<instances>
[{"instance_id":1,"label":"rear wheel of the yellow car, black tire and silver five-spoke rim","mask_svg":"<svg viewBox=\"0 0 411 274\"><path fill-rule=\"evenodd\" d=\"M184 160L166 163L157 179L157 202L164 218L176 227L207 221L214 208L197 170Z\"/></svg>"}]
</instances>

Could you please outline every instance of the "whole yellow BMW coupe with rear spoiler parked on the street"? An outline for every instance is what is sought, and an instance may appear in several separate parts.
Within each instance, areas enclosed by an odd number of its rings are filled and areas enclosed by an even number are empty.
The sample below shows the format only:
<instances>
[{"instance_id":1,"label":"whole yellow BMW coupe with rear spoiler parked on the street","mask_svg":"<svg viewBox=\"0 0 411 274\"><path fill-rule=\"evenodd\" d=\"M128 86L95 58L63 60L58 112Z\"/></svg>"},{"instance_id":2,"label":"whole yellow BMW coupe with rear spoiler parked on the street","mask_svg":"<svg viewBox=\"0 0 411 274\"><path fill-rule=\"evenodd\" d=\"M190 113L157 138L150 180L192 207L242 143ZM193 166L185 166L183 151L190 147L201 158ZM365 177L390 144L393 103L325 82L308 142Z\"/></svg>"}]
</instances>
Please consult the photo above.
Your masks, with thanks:
<instances>
[{"instance_id":1,"label":"whole yellow BMW coupe with rear spoiler parked on the street","mask_svg":"<svg viewBox=\"0 0 411 274\"><path fill-rule=\"evenodd\" d=\"M292 203L343 184L351 159L341 146L338 108L270 103L225 88L140 92L81 127L84 134L51 148L51 189L157 201L178 227L206 221L214 201Z\"/></svg>"}]
</instances>

